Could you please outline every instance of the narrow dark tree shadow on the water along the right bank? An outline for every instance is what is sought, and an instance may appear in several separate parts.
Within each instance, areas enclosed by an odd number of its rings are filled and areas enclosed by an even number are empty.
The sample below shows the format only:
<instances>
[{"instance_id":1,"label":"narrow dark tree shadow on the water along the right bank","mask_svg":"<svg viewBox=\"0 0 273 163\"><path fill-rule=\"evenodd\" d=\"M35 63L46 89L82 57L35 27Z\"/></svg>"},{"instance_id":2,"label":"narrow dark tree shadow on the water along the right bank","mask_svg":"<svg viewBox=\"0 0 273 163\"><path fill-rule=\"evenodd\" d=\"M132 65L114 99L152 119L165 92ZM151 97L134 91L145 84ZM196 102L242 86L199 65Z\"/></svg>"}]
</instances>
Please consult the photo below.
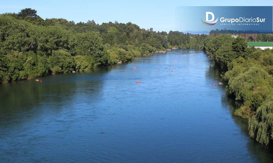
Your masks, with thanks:
<instances>
[{"instance_id":1,"label":"narrow dark tree shadow on the water along the right bank","mask_svg":"<svg viewBox=\"0 0 273 163\"><path fill-rule=\"evenodd\" d=\"M217 81L221 81L223 85L227 85L227 81L223 80L221 77L221 69L217 64L213 61L213 59L208 60L210 67L206 72L206 77ZM220 87L223 91L226 92L226 87ZM248 135L248 120L243 119L234 115L235 109L239 108L242 105L241 101L236 101L230 95L224 94L222 96L221 102L223 105L229 106L229 112L235 124L239 125L241 128L242 134L248 137L248 151L256 158L257 162L273 162L273 148L272 146L265 146L260 143L257 143L255 139L250 138Z\"/></svg>"}]
</instances>

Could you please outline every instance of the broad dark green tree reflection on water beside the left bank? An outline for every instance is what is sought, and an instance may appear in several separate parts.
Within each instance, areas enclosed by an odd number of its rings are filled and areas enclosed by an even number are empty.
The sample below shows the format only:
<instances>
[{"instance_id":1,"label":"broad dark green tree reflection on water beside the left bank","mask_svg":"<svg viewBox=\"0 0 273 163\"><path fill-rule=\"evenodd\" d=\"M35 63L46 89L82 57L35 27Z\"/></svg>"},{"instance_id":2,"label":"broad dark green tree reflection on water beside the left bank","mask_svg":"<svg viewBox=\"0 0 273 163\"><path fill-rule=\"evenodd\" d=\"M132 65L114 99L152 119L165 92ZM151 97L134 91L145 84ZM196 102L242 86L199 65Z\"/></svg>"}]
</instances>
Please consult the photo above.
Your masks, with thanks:
<instances>
[{"instance_id":1,"label":"broad dark green tree reflection on water beside the left bank","mask_svg":"<svg viewBox=\"0 0 273 163\"><path fill-rule=\"evenodd\" d=\"M105 73L114 67L102 66L76 74L39 77L42 83L32 79L1 84L0 127L35 119L45 111L45 107L61 112L77 100L94 99L102 90Z\"/></svg>"}]
</instances>

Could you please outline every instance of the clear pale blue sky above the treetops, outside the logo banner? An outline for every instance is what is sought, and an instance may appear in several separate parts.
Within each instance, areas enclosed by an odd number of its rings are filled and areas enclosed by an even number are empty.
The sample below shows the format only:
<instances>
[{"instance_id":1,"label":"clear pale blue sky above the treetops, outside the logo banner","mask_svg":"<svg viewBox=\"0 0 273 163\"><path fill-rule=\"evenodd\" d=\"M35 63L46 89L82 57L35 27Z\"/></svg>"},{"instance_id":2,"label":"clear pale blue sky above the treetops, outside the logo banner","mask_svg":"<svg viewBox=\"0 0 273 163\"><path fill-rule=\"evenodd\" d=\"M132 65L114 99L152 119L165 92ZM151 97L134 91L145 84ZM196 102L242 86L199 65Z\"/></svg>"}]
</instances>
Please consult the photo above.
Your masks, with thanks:
<instances>
[{"instance_id":1,"label":"clear pale blue sky above the treetops, outside the logo banner","mask_svg":"<svg viewBox=\"0 0 273 163\"><path fill-rule=\"evenodd\" d=\"M17 13L20 9L33 8L43 19L65 18L75 23L94 20L99 24L115 20L120 23L130 21L140 28L175 31L176 6L273 6L273 0L0 0L0 13Z\"/></svg>"}]
</instances>

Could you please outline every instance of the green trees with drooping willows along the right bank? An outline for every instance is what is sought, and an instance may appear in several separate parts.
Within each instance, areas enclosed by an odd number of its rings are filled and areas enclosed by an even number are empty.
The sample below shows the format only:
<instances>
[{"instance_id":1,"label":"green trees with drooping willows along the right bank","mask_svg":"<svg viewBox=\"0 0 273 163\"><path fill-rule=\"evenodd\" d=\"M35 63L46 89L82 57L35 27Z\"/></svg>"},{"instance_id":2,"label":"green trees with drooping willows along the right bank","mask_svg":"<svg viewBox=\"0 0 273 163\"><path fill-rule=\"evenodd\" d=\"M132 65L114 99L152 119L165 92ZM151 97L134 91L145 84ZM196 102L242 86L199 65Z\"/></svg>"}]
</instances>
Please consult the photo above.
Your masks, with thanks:
<instances>
[{"instance_id":1,"label":"green trees with drooping willows along the right bank","mask_svg":"<svg viewBox=\"0 0 273 163\"><path fill-rule=\"evenodd\" d=\"M204 51L221 66L227 94L243 102L234 114L248 119L250 137L272 145L273 50L247 47L244 38L222 34L210 39Z\"/></svg>"}]
</instances>

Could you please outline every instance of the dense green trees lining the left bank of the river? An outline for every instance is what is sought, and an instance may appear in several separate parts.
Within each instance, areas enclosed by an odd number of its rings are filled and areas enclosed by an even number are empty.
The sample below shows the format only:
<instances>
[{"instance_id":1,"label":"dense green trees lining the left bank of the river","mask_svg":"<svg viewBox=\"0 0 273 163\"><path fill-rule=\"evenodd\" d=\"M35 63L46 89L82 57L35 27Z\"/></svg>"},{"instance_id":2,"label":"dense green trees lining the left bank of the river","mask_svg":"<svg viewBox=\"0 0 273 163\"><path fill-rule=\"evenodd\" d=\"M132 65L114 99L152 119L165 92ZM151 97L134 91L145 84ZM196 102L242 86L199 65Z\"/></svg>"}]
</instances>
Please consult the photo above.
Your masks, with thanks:
<instances>
[{"instance_id":1,"label":"dense green trees lining the left bank of the river","mask_svg":"<svg viewBox=\"0 0 273 163\"><path fill-rule=\"evenodd\" d=\"M207 35L140 29L136 24L42 19L35 9L0 15L0 83L86 71L172 48L203 48Z\"/></svg>"}]
</instances>

